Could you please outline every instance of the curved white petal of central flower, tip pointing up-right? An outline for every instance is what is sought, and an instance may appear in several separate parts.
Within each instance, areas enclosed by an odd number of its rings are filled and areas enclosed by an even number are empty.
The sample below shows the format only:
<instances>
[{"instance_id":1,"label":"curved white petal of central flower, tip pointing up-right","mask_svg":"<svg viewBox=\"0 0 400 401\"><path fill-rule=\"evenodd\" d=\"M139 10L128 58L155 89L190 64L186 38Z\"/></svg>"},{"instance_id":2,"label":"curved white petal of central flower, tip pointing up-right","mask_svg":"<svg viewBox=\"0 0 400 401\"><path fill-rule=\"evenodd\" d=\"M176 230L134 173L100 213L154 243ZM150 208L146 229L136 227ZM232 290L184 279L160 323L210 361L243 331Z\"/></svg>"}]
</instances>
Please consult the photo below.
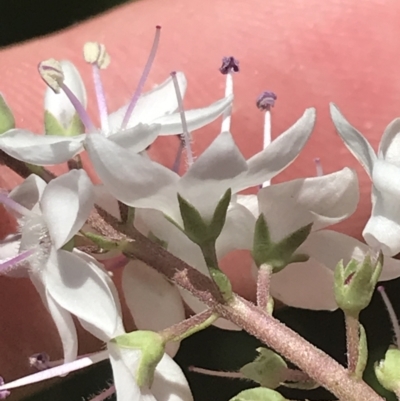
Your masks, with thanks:
<instances>
[{"instance_id":1,"label":"curved white petal of central flower, tip pointing up-right","mask_svg":"<svg viewBox=\"0 0 400 401\"><path fill-rule=\"evenodd\" d=\"M238 177L233 192L268 181L289 166L307 143L314 129L315 118L315 109L307 109L288 130L251 157L247 161L247 173Z\"/></svg>"}]
</instances>

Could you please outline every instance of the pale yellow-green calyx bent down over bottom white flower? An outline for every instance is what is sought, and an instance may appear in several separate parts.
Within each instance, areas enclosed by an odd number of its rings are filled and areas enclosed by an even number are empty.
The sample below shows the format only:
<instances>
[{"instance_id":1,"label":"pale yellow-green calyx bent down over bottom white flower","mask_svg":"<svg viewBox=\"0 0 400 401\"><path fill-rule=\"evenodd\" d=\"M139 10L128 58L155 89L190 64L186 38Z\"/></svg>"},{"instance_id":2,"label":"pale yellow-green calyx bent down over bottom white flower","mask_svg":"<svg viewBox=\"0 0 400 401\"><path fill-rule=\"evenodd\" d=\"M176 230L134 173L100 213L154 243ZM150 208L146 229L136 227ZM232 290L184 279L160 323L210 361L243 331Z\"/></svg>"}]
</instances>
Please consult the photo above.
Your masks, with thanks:
<instances>
[{"instance_id":1,"label":"pale yellow-green calyx bent down over bottom white flower","mask_svg":"<svg viewBox=\"0 0 400 401\"><path fill-rule=\"evenodd\" d=\"M115 337L111 342L120 348L138 349L141 358L138 370L135 374L139 387L151 387L154 380L154 372L158 363L164 356L164 340L160 334L153 331L133 331Z\"/></svg>"}]
</instances>

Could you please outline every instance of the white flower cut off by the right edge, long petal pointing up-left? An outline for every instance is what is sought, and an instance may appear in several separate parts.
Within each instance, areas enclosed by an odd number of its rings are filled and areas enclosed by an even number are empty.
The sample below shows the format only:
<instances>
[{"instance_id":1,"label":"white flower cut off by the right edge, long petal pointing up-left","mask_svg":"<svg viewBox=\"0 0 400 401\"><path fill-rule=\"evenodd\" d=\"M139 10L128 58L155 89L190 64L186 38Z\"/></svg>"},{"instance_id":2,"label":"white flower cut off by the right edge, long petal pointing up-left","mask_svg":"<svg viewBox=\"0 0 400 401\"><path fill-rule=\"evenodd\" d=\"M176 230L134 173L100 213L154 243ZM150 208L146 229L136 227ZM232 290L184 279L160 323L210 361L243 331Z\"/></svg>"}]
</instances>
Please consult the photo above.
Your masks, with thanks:
<instances>
[{"instance_id":1,"label":"white flower cut off by the right edge, long petal pointing up-left","mask_svg":"<svg viewBox=\"0 0 400 401\"><path fill-rule=\"evenodd\" d=\"M372 213L363 237L372 248L388 256L396 255L400 252L400 119L386 127L376 154L334 104L330 111L345 145L372 180Z\"/></svg>"}]
</instances>

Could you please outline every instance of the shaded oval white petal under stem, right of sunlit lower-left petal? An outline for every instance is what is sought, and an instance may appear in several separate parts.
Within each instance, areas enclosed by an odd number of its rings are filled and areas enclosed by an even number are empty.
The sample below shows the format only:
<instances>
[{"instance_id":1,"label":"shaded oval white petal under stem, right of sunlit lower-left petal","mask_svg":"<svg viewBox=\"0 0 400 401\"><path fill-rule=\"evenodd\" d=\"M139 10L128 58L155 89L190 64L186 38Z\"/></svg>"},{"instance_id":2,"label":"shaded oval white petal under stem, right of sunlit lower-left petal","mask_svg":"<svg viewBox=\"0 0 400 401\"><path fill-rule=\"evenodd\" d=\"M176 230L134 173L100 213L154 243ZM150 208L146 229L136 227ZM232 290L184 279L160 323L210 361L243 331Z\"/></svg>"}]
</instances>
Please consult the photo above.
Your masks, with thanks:
<instances>
[{"instance_id":1,"label":"shaded oval white petal under stem, right of sunlit lower-left petal","mask_svg":"<svg viewBox=\"0 0 400 401\"><path fill-rule=\"evenodd\" d=\"M132 260L124 268L122 288L139 330L160 331L185 319L178 289L139 260ZM179 342L167 344L171 356L175 356L178 349Z\"/></svg>"}]
</instances>

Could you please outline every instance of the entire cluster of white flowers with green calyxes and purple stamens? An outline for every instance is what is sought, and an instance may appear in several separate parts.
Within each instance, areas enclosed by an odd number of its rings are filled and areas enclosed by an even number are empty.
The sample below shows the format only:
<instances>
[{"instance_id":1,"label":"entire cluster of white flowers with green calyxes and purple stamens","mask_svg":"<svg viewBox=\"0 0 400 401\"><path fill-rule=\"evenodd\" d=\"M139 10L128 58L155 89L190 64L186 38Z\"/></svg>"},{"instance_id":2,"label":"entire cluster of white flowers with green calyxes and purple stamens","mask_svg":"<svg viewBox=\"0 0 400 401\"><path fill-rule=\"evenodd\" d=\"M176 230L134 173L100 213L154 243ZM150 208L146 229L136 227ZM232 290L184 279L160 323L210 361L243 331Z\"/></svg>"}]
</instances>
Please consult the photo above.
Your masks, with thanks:
<instances>
[{"instance_id":1,"label":"entire cluster of white flowers with green calyxes and purple stamens","mask_svg":"<svg viewBox=\"0 0 400 401\"><path fill-rule=\"evenodd\" d=\"M257 306L265 316L273 308L273 299L278 299L315 310L334 310L339 305L346 318L357 318L368 305L378 278L400 276L400 261L391 258L400 251L399 120L388 126L377 156L337 107L331 106L340 136L373 182L365 244L328 229L357 208L355 171L344 168L324 175L319 168L315 177L270 183L306 145L313 132L315 109L305 110L272 140L271 107L277 96L263 92L256 103L265 113L264 148L246 160L230 127L238 61L223 59L223 98L185 111L182 72L171 73L165 82L142 93L159 36L158 27L132 100L111 114L100 76L110 57L102 44L85 45L101 127L95 126L86 111L85 86L69 61L50 59L39 66L49 86L43 135L13 127L8 106L4 101L0 105L2 121L7 121L4 129L0 127L0 158L11 157L14 162L8 165L17 172L21 165L32 171L10 193L0 193L0 202L15 215L19 227L0 243L0 272L30 278L64 349L59 362L32 357L32 364L41 366L40 372L0 386L0 398L9 389L109 359L114 385L104 392L104 399L116 391L119 401L191 400L188 383L172 357L181 339L210 324L242 328L240 319L227 319L229 314L220 309L220 305L234 305L236 299L229 277L219 267L222 258L235 250L252 253L254 274L249 280L257 282ZM191 133L219 117L221 131L194 159ZM181 138L172 168L147 153L162 135ZM89 155L101 184L94 185L82 169L82 152ZM187 164L180 175L183 154ZM70 171L49 179L44 166L61 163L68 163ZM243 194L249 188L257 193ZM136 239L148 239L146 244L153 248L139 249L140 243L131 240L132 232ZM387 257L377 257L379 252ZM161 274L155 265L157 254L170 255L170 260L194 268L199 276L179 278L182 269L178 266L176 274ZM125 332L121 294L111 278L117 268L123 269L123 296L140 329L133 333ZM201 280L196 277L209 284L210 294L216 291L220 297L214 308L210 307L211 295L202 298ZM359 306L360 299L365 304ZM187 320L185 305L195 313ZM73 317L106 344L105 350L78 356ZM352 361L358 374L361 365L357 358ZM279 363L282 372L287 372L286 364ZM284 381L277 379L277 383Z\"/></svg>"}]
</instances>

